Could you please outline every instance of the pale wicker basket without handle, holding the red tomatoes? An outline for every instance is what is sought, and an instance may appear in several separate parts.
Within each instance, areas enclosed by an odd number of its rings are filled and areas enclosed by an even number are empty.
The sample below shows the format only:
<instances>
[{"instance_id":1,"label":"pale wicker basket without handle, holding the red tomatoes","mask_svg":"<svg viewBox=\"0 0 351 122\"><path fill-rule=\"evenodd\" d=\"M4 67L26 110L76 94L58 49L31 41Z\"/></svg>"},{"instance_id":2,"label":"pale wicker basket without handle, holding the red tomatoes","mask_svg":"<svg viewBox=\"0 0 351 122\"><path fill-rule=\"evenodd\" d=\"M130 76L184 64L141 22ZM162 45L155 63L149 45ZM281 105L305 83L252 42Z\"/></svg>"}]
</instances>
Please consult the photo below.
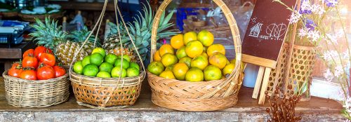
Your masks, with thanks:
<instances>
[{"instance_id":1,"label":"pale wicker basket without handle, holding the red tomatoes","mask_svg":"<svg viewBox=\"0 0 351 122\"><path fill-rule=\"evenodd\" d=\"M49 107L68 100L68 74L48 80L25 80L3 73L6 100L14 107Z\"/></svg>"}]
</instances>

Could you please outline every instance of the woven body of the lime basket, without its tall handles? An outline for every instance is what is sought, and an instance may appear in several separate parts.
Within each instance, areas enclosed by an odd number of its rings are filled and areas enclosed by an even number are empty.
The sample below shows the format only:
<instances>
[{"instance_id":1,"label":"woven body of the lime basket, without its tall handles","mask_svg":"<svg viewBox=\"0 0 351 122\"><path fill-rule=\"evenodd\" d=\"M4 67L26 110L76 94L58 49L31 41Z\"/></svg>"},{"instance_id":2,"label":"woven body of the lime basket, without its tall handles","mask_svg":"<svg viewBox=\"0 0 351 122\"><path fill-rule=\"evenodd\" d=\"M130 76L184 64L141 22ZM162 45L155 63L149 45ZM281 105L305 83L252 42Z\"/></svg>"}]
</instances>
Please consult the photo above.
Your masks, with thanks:
<instances>
[{"instance_id":1,"label":"woven body of the lime basket, without its tall handles","mask_svg":"<svg viewBox=\"0 0 351 122\"><path fill-rule=\"evenodd\" d=\"M70 72L74 96L79 105L95 109L114 109L135 103L140 95L144 73L133 78L110 78L82 76Z\"/></svg>"}]
</instances>

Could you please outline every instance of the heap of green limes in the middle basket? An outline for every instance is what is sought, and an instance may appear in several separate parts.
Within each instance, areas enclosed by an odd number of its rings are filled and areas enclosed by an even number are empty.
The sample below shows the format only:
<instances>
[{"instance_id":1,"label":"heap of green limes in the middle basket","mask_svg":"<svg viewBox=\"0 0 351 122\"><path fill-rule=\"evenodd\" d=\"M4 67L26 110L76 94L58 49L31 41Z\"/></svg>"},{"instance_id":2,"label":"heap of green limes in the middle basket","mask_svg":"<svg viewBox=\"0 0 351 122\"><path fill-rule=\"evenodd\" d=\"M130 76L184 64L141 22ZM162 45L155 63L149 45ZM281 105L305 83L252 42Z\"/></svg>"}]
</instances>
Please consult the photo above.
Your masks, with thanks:
<instances>
[{"instance_id":1,"label":"heap of green limes in the middle basket","mask_svg":"<svg viewBox=\"0 0 351 122\"><path fill-rule=\"evenodd\" d=\"M129 55L106 54L105 49L95 48L91 55L74 63L73 71L84 76L126 78L139 76L140 66Z\"/></svg>"}]
</instances>

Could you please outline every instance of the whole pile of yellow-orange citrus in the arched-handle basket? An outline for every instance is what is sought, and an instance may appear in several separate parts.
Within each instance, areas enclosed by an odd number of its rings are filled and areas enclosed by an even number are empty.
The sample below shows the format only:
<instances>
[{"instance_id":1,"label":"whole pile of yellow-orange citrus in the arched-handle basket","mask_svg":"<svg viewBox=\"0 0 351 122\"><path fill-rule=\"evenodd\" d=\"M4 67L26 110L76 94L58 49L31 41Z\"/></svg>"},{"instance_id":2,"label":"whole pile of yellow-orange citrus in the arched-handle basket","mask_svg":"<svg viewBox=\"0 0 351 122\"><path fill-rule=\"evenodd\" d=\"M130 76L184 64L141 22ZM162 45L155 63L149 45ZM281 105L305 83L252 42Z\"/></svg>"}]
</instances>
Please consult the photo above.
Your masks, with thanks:
<instances>
[{"instance_id":1,"label":"whole pile of yellow-orange citrus in the arched-handle basket","mask_svg":"<svg viewBox=\"0 0 351 122\"><path fill-rule=\"evenodd\" d=\"M229 62L224 46L213 44L213 40L213 34L207 30L172 36L170 44L154 53L154 62L147 70L165 79L181 81L223 79L234 70L235 60Z\"/></svg>"}]
</instances>

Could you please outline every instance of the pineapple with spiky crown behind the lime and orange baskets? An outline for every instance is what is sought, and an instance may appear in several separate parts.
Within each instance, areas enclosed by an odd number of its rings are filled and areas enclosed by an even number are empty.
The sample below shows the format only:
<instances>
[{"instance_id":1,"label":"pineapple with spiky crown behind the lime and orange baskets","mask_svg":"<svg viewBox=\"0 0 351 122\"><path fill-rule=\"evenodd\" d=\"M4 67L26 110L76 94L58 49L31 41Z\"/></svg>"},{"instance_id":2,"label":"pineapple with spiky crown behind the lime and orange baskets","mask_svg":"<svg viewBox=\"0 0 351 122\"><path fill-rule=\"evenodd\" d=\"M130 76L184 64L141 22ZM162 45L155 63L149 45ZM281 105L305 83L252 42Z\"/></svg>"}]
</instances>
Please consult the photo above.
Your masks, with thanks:
<instances>
[{"instance_id":1,"label":"pineapple with spiky crown behind the lime and orange baskets","mask_svg":"<svg viewBox=\"0 0 351 122\"><path fill-rule=\"evenodd\" d=\"M165 16L165 13L161 15L159 29L157 29L157 39L162 39L168 36L173 36L178 33L178 31L171 29L166 30L169 27L173 26L172 23L169 23L173 12ZM137 18L134 18L132 23L128 23L127 27L131 34L131 38L133 39L136 48L138 48L138 53L145 60L147 53L150 53L150 40L151 40L151 30L152 30L152 22L154 18L154 13L149 4L147 6L144 5L143 13L140 13ZM105 39L104 44L102 45L109 53L115 53L119 55L122 51L127 55L136 55L135 48L131 43L131 39L124 29L122 24L119 24L119 31L121 33L121 43L122 48L120 47L119 34L117 32L117 25L112 22L107 23L110 25L110 35L107 39ZM133 25L134 24L134 25ZM160 44L158 43L158 46ZM133 52L132 52L133 51ZM136 56L133 56L136 57Z\"/></svg>"}]
</instances>

